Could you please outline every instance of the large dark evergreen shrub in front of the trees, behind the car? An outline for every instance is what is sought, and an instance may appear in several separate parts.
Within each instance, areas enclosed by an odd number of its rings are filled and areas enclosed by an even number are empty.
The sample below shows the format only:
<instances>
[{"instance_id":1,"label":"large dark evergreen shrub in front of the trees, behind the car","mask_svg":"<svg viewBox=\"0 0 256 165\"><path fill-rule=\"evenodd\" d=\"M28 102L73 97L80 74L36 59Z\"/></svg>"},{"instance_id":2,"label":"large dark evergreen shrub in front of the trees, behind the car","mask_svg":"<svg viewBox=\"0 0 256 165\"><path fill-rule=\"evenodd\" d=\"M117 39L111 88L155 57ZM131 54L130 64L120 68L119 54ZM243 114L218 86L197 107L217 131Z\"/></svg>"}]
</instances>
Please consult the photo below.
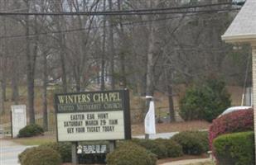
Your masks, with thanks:
<instances>
[{"instance_id":1,"label":"large dark evergreen shrub in front of the trees, behind the car","mask_svg":"<svg viewBox=\"0 0 256 165\"><path fill-rule=\"evenodd\" d=\"M211 122L230 106L225 82L208 79L205 84L189 87L181 98L181 117L184 120L207 120Z\"/></svg>"}]
</instances>

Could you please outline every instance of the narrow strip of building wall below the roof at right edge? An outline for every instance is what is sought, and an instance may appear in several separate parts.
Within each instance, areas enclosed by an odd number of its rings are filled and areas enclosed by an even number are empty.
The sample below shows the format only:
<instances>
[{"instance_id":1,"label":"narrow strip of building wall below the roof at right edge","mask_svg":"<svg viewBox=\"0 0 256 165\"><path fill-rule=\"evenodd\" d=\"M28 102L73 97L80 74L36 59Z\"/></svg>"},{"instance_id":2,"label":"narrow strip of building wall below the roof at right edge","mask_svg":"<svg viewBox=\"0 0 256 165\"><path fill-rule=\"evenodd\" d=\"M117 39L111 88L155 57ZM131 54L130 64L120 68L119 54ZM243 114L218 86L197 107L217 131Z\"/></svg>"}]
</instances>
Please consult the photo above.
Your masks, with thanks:
<instances>
[{"instance_id":1,"label":"narrow strip of building wall below the roof at right edge","mask_svg":"<svg viewBox=\"0 0 256 165\"><path fill-rule=\"evenodd\" d=\"M254 96L254 142L256 149L256 45L252 45L252 59L253 59L253 96ZM256 152L255 152L256 158Z\"/></svg>"}]
</instances>

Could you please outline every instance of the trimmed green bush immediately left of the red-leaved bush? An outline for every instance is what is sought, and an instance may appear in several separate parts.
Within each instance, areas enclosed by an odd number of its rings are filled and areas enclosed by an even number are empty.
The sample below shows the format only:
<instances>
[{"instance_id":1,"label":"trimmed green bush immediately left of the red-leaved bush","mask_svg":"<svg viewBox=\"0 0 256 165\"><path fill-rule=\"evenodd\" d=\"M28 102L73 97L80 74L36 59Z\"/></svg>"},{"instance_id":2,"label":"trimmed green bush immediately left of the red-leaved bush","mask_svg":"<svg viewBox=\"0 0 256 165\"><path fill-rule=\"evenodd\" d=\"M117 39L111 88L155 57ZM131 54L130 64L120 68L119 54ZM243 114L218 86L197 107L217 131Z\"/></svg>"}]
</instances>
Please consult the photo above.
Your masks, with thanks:
<instances>
[{"instance_id":1,"label":"trimmed green bush immediately left of the red-leaved bush","mask_svg":"<svg viewBox=\"0 0 256 165\"><path fill-rule=\"evenodd\" d=\"M185 131L175 134L171 139L181 145L183 153L191 155L200 155L208 151L207 132Z\"/></svg>"}]
</instances>

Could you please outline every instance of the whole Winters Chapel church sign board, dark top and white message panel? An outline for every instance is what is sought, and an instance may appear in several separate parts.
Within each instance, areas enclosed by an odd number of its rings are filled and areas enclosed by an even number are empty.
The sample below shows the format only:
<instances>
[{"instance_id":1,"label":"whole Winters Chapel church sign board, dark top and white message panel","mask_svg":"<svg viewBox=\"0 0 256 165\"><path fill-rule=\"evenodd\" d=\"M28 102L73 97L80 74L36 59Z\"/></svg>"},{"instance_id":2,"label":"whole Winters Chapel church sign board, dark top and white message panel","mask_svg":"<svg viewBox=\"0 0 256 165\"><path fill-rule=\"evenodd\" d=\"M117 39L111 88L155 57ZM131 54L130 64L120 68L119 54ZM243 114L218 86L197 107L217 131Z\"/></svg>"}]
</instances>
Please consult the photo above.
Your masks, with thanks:
<instances>
[{"instance_id":1,"label":"whole Winters Chapel church sign board, dark top and white message panel","mask_svg":"<svg viewBox=\"0 0 256 165\"><path fill-rule=\"evenodd\" d=\"M56 94L57 140L131 139L128 90Z\"/></svg>"}]
</instances>

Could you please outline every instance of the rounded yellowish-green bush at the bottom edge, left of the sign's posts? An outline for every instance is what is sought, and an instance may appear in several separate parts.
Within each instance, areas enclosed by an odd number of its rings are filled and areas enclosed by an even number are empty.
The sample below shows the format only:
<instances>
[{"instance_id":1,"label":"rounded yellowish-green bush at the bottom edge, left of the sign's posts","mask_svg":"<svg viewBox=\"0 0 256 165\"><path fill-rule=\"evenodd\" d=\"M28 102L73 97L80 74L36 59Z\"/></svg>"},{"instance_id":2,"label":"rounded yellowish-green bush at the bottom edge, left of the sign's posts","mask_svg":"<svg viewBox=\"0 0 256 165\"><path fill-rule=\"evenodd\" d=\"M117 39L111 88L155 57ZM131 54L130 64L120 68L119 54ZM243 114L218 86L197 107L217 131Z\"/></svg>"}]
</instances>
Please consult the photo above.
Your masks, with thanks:
<instances>
[{"instance_id":1,"label":"rounded yellowish-green bush at the bottom edge, left of the sign's posts","mask_svg":"<svg viewBox=\"0 0 256 165\"><path fill-rule=\"evenodd\" d=\"M60 154L47 147L28 148L19 155L22 165L60 165Z\"/></svg>"}]
</instances>

